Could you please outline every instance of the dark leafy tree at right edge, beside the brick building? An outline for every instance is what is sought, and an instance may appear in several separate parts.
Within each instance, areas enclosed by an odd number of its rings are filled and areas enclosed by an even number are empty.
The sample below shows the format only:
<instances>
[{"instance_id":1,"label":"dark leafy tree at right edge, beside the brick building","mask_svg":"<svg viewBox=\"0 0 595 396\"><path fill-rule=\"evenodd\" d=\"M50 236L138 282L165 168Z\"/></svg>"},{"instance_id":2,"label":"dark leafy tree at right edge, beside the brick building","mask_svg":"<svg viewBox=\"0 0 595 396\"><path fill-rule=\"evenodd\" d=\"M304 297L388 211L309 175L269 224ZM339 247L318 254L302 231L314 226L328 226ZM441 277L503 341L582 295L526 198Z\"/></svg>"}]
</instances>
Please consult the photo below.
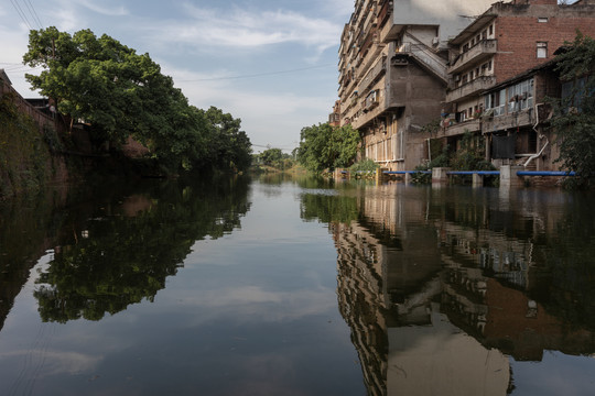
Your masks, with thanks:
<instances>
[{"instance_id":1,"label":"dark leafy tree at right edge, beside the brick building","mask_svg":"<svg viewBox=\"0 0 595 396\"><path fill-rule=\"evenodd\" d=\"M560 146L558 161L576 173L578 186L586 187L595 179L595 41L578 32L556 59L562 90L567 92L552 120Z\"/></svg>"}]
</instances>

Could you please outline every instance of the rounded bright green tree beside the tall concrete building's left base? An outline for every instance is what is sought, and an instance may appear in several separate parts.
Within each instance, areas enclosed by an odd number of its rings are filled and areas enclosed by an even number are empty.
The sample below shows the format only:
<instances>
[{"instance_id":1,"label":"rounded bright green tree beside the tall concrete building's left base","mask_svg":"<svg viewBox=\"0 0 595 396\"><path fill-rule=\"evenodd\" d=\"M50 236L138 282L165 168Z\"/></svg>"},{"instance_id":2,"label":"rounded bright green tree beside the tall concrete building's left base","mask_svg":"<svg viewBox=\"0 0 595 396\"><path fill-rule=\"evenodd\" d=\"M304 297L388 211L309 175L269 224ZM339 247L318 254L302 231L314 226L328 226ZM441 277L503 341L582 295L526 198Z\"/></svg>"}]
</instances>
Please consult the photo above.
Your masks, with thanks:
<instances>
[{"instance_id":1,"label":"rounded bright green tree beside the tall concrete building's left base","mask_svg":"<svg viewBox=\"0 0 595 396\"><path fill-rule=\"evenodd\" d=\"M317 174L350 166L360 142L359 132L350 125L332 127L327 122L303 128L300 136L298 161Z\"/></svg>"}]
</instances>

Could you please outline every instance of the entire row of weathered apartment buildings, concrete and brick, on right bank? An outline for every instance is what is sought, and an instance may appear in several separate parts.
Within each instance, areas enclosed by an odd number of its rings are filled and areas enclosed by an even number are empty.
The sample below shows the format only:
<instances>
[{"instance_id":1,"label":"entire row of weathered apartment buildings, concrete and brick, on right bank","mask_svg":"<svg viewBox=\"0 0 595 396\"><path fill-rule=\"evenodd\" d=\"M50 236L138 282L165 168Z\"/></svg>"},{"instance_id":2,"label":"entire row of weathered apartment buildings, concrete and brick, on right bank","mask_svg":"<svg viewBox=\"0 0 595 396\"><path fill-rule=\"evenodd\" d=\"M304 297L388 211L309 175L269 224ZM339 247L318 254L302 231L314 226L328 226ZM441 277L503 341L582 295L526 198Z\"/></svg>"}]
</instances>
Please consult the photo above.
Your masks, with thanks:
<instances>
[{"instance_id":1,"label":"entire row of weathered apartment buildings, concrete and brick, on right bank","mask_svg":"<svg viewBox=\"0 0 595 396\"><path fill-rule=\"evenodd\" d=\"M466 132L486 138L496 166L554 169L544 98L560 81L540 67L576 30L595 36L594 22L595 0L358 0L339 48L340 124L391 170L430 160L430 139L456 150Z\"/></svg>"}]
</instances>

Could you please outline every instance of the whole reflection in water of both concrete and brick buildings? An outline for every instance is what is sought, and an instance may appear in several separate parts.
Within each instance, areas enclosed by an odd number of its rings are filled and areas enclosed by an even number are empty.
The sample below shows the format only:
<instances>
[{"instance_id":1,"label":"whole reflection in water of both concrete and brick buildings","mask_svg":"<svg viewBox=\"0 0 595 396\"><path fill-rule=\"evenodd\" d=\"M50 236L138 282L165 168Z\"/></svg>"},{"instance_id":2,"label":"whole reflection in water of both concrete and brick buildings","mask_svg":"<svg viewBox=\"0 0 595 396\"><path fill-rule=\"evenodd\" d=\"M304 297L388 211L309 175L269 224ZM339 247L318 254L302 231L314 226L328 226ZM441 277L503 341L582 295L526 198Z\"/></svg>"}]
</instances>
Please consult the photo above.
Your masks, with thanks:
<instances>
[{"instance_id":1,"label":"whole reflection in water of both concrete and brick buildings","mask_svg":"<svg viewBox=\"0 0 595 396\"><path fill-rule=\"evenodd\" d=\"M512 383L507 355L593 351L593 332L571 329L531 294L533 241L560 215L489 193L365 194L358 221L332 230L339 309L369 394L504 395Z\"/></svg>"}]
</instances>

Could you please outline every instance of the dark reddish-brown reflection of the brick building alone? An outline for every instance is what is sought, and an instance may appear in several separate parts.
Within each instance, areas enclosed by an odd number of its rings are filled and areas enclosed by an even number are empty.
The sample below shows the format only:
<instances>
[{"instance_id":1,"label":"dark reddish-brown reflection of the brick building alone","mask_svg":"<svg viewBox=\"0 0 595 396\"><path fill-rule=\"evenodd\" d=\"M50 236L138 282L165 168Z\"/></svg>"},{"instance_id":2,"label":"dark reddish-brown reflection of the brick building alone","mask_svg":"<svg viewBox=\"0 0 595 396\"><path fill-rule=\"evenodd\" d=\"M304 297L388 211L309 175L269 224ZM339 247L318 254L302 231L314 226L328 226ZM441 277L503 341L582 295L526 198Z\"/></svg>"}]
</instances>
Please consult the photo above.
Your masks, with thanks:
<instances>
[{"instance_id":1,"label":"dark reddish-brown reflection of the brick building alone","mask_svg":"<svg viewBox=\"0 0 595 396\"><path fill-rule=\"evenodd\" d=\"M541 361L544 350L574 355L593 350L593 332L572 329L530 297L537 276L533 242L499 232L469 235L448 221L441 227L447 230L441 240L442 311L453 323L516 360Z\"/></svg>"}]
</instances>

